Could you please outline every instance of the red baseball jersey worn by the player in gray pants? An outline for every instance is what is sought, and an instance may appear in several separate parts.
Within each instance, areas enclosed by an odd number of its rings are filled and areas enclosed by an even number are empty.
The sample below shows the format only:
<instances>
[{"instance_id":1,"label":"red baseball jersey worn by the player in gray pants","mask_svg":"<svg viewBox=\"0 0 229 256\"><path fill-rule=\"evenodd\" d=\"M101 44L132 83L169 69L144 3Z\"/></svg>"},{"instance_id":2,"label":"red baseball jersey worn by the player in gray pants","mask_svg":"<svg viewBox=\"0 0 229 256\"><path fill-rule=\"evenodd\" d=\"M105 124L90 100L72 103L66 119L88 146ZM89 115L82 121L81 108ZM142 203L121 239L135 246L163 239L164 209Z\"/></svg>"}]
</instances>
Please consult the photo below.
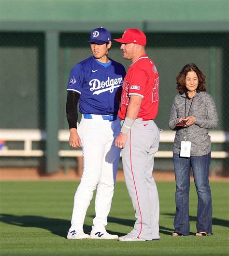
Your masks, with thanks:
<instances>
[{"instance_id":1,"label":"red baseball jersey worn by the player in gray pants","mask_svg":"<svg viewBox=\"0 0 229 256\"><path fill-rule=\"evenodd\" d=\"M157 68L152 60L143 55L129 66L122 85L121 108L118 116L125 119L129 97L138 95L143 101L137 118L155 119L159 103L158 88Z\"/></svg>"}]
</instances>

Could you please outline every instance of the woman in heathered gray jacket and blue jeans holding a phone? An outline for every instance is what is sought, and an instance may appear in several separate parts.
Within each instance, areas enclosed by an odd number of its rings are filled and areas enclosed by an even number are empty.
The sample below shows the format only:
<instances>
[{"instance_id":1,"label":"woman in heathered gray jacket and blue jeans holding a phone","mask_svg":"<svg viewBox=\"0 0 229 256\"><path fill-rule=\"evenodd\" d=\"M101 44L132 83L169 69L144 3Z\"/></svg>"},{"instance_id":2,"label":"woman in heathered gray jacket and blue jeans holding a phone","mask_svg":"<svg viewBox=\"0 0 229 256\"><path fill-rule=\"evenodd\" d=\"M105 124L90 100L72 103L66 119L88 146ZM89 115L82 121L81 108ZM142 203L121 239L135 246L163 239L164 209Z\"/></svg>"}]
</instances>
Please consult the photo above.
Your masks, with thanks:
<instances>
[{"instance_id":1,"label":"woman in heathered gray jacket and blue jeans holding a phone","mask_svg":"<svg viewBox=\"0 0 229 256\"><path fill-rule=\"evenodd\" d=\"M176 213L172 236L189 235L189 187L192 168L198 194L196 236L212 234L212 196L209 186L211 140L209 128L218 126L215 101L206 93L205 76L193 63L185 65L177 80L169 127L176 130L173 164Z\"/></svg>"}]
</instances>

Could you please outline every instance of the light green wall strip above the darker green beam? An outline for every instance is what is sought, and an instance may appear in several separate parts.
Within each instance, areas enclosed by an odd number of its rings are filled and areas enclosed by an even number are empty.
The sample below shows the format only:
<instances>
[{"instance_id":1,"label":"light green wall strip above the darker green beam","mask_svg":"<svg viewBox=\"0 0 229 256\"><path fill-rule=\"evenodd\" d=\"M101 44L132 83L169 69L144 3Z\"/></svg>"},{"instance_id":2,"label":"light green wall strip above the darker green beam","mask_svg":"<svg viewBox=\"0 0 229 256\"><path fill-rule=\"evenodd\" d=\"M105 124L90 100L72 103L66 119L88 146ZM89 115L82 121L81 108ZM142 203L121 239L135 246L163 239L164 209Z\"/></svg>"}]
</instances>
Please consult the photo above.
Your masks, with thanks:
<instances>
[{"instance_id":1,"label":"light green wall strip above the darker green beam","mask_svg":"<svg viewBox=\"0 0 229 256\"><path fill-rule=\"evenodd\" d=\"M0 0L17 21L227 21L228 0Z\"/></svg>"}]
</instances>

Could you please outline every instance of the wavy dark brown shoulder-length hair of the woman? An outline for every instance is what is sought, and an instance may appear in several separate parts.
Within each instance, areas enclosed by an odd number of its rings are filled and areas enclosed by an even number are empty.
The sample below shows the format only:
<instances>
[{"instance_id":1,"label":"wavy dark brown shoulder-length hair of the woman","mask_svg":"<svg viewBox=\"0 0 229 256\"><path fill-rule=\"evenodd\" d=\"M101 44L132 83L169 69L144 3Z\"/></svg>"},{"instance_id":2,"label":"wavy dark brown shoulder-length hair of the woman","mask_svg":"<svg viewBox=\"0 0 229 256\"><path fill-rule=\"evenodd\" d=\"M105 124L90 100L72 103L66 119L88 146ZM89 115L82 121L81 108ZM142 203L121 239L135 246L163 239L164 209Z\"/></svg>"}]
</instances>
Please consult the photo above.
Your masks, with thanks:
<instances>
[{"instance_id":1,"label":"wavy dark brown shoulder-length hair of the woman","mask_svg":"<svg viewBox=\"0 0 229 256\"><path fill-rule=\"evenodd\" d=\"M187 94L186 75L190 71L196 72L196 74L198 76L199 83L198 83L198 86L197 86L197 93L205 92L206 91L205 76L202 74L202 72L200 71L200 69L197 67L196 64L189 63L189 64L186 64L182 68L182 70L180 71L180 73L176 77L176 83L177 83L176 89L178 90L179 94L183 94L183 93Z\"/></svg>"}]
</instances>

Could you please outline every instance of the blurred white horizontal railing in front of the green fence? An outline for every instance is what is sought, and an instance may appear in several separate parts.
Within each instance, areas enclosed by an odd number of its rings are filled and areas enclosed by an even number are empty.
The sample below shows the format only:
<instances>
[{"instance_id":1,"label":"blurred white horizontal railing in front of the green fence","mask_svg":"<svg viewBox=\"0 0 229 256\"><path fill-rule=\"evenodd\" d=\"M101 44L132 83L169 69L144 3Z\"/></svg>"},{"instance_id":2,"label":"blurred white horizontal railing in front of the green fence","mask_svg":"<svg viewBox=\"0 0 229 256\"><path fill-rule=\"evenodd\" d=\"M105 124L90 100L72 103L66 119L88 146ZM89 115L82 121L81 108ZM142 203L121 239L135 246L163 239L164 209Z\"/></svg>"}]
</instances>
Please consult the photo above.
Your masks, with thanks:
<instances>
[{"instance_id":1,"label":"blurred white horizontal railing in front of the green fence","mask_svg":"<svg viewBox=\"0 0 229 256\"><path fill-rule=\"evenodd\" d=\"M214 131L209 132L212 143L228 143L229 132ZM172 143L174 140L175 131L164 130L160 133L160 143ZM9 142L24 142L23 149L9 149L3 144L0 149L0 157L42 157L44 155L43 150L33 149L32 143L45 140L45 132L39 129L0 129L0 141ZM58 140L60 142L68 142L69 130L59 130ZM60 157L82 157L80 149L72 150L59 150ZM155 154L157 158L172 158L172 151L158 151ZM229 153L226 151L212 151L212 158L225 159L229 157Z\"/></svg>"}]
</instances>

